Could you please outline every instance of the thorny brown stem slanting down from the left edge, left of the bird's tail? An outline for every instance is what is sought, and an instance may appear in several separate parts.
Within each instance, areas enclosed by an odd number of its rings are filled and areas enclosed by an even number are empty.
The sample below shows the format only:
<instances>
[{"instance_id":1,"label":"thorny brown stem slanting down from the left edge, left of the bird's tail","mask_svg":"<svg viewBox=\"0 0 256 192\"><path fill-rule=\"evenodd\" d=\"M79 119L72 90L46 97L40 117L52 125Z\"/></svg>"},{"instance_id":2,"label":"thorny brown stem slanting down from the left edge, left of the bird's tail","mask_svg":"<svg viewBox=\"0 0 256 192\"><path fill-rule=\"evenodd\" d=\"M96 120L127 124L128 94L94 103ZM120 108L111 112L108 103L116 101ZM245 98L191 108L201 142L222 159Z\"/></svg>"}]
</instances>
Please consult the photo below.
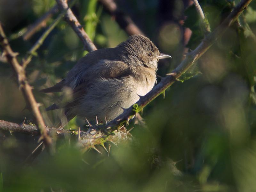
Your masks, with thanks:
<instances>
[{"instance_id":1,"label":"thorny brown stem slanting down from the left edge, left of the bird's tail","mask_svg":"<svg viewBox=\"0 0 256 192\"><path fill-rule=\"evenodd\" d=\"M47 146L50 146L52 143L52 140L47 134L47 131L45 129L44 120L39 111L39 104L35 100L35 97L32 92L32 87L28 84L27 77L25 74L25 69L19 64L16 58L18 53L14 53L12 51L12 48L10 47L9 42L4 34L4 30L2 28L1 23L0 23L0 46L2 47L8 62L12 65L14 73L17 75L19 88L21 89L23 96L27 101L28 107L31 108L34 116L36 117L36 122L42 134L42 139L44 140Z\"/></svg>"}]
</instances>

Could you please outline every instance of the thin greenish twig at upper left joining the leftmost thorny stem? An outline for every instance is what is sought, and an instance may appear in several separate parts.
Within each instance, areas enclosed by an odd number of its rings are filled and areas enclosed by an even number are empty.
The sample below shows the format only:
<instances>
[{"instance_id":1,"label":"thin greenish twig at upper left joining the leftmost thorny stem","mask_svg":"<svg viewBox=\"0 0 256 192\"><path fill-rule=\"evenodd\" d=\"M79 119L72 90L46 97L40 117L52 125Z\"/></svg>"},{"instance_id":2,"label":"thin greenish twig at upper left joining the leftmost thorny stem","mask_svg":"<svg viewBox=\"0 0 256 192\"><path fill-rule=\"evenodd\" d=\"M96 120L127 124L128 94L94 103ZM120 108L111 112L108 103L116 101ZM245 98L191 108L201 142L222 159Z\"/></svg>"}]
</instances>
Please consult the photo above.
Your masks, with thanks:
<instances>
[{"instance_id":1,"label":"thin greenish twig at upper left joining the leftmost thorny stem","mask_svg":"<svg viewBox=\"0 0 256 192\"><path fill-rule=\"evenodd\" d=\"M73 0L70 4L70 7L72 7L75 4L75 0ZM40 38L36 41L36 43L31 47L31 49L28 51L28 54L26 56L26 59L22 61L22 65L24 68L27 67L28 63L31 61L32 57L36 55L36 50L43 44L46 37L51 33L51 31L58 25L61 18L66 14L67 10L64 10L61 12L61 14L52 22L52 24L46 29L43 35L40 36Z\"/></svg>"}]
</instances>

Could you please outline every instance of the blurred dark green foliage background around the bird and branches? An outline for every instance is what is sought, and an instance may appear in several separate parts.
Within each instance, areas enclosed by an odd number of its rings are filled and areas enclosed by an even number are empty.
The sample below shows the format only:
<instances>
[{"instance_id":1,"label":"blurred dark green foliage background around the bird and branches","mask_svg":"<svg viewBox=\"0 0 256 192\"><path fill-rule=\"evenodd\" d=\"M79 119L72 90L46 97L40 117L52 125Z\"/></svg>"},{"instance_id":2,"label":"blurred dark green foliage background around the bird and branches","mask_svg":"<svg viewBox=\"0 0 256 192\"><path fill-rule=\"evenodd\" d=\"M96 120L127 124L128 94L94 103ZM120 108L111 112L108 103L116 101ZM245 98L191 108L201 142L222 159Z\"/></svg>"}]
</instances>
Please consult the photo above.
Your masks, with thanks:
<instances>
[{"instance_id":1,"label":"blurred dark green foliage background around the bird and branches","mask_svg":"<svg viewBox=\"0 0 256 192\"><path fill-rule=\"evenodd\" d=\"M239 1L202 0L214 30ZM189 0L116 0L141 31L172 60L159 62L158 75L174 69L204 38ZM24 57L58 13L28 40L29 25L54 0L0 0L0 21L12 49ZM97 0L78 0L72 8L97 48L128 38ZM191 31L192 35L191 35ZM256 191L256 3L252 1L225 34L162 96L143 110L148 129L138 125L133 140L112 146L110 154L81 155L60 138L56 154L46 150L30 166L25 158L37 137L0 132L0 191ZM188 37L191 35L189 42ZM188 44L187 44L188 43ZM60 81L86 52L65 21L45 39L26 71L46 124L58 111L45 112L59 98L38 90ZM0 119L34 119L25 108L10 65L0 61ZM76 129L81 121L69 126ZM72 138L71 138L72 140Z\"/></svg>"}]
</instances>

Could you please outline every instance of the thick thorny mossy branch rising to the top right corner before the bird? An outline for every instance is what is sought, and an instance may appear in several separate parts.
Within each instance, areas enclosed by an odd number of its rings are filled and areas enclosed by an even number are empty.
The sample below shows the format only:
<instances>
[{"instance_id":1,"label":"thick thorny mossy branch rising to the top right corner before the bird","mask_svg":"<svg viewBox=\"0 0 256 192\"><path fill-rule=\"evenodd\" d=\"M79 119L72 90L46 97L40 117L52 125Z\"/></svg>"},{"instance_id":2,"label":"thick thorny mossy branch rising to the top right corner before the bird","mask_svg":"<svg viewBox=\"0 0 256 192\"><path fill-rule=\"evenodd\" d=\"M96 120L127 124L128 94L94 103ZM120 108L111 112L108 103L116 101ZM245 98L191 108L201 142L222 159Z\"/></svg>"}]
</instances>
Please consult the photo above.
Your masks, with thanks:
<instances>
[{"instance_id":1,"label":"thick thorny mossy branch rising to the top right corner before the bird","mask_svg":"<svg viewBox=\"0 0 256 192\"><path fill-rule=\"evenodd\" d=\"M129 119L140 112L148 103L154 100L158 95L164 94L165 90L170 87L177 79L184 74L188 68L190 68L196 60L198 60L204 52L206 52L211 45L226 31L226 29L237 19L237 17L247 8L252 0L242 0L236 8L228 15L228 17L217 27L212 33L208 34L204 40L197 46L197 48L188 53L186 58L180 63L180 65L175 68L172 73L166 74L166 77L161 79L161 82L157 84L148 94L140 97L140 100L131 106L130 108L124 109L124 112L116 117L114 120L106 124L96 124L89 128L87 132L83 132L80 138L79 144L85 149L94 147L94 145L100 142L104 142L104 138L108 139L111 137L111 133L116 133L123 127L124 124L129 122ZM1 129L0 124L0 129ZM95 133L95 134L92 134ZM97 135L98 136L95 136ZM92 137L92 135L94 137ZM126 135L127 136L127 135ZM102 140L103 139L103 140Z\"/></svg>"}]
</instances>

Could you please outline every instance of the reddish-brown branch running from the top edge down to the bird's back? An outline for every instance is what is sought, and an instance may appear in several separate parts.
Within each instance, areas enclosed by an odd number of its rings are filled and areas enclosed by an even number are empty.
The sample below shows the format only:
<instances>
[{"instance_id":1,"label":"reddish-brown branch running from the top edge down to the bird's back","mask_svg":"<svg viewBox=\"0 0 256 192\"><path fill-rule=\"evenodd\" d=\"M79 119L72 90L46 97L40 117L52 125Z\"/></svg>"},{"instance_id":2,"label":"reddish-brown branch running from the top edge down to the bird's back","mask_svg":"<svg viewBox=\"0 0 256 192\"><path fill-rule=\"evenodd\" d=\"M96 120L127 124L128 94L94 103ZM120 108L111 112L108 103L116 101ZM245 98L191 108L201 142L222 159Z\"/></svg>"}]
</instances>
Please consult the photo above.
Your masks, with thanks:
<instances>
[{"instance_id":1,"label":"reddish-brown branch running from the top edge down to the bird's back","mask_svg":"<svg viewBox=\"0 0 256 192\"><path fill-rule=\"evenodd\" d=\"M56 2L61 11L67 10L67 13L65 15L66 21L76 32L78 37L82 40L82 42L85 46L85 50L87 50L89 52L97 50L96 46L92 43L92 40L89 38L89 36L84 31L84 28L81 26L79 21L76 19L74 13L68 7L67 2L65 0L56 0Z\"/></svg>"}]
</instances>

